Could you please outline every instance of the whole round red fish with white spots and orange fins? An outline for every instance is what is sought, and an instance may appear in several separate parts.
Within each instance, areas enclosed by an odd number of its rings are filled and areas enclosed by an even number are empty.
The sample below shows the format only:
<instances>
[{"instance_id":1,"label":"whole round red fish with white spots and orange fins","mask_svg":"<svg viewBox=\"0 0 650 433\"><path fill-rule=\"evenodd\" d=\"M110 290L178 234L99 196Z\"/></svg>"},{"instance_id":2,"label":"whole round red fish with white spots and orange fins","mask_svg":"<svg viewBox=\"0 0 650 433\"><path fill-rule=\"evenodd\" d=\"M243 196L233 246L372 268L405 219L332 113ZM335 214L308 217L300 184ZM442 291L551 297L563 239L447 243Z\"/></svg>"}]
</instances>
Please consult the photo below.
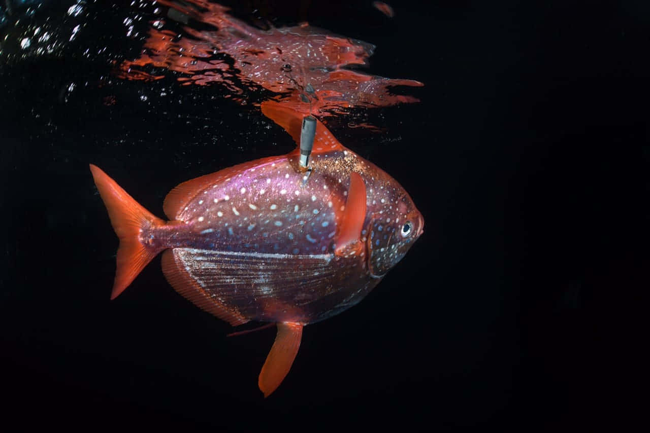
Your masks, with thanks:
<instances>
[{"instance_id":1,"label":"whole round red fish with white spots and orange fins","mask_svg":"<svg viewBox=\"0 0 650 433\"><path fill-rule=\"evenodd\" d=\"M294 139L302 116L263 105ZM112 298L162 253L181 295L231 323L278 323L259 378L265 395L288 373L302 327L358 303L422 233L408 193L318 122L309 171L299 152L180 184L163 221L91 166L120 237Z\"/></svg>"}]
</instances>

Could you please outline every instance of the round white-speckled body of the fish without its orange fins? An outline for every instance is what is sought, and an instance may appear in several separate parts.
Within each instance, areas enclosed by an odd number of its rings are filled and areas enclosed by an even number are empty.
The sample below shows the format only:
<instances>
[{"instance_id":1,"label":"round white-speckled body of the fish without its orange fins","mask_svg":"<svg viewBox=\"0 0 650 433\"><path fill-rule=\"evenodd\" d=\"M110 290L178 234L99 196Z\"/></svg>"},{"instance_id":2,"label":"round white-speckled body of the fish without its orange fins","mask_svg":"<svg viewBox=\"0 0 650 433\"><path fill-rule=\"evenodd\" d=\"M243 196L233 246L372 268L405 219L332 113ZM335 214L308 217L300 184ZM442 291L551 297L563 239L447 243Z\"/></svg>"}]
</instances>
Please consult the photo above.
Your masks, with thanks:
<instances>
[{"instance_id":1,"label":"round white-speckled body of the fish without its orange fins","mask_svg":"<svg viewBox=\"0 0 650 433\"><path fill-rule=\"evenodd\" d=\"M409 218L421 225L421 217L395 179L349 149L313 156L308 176L298 167L297 152L213 173L215 182L196 190L174 220L144 227L140 242L157 251L172 249L177 264L200 281L207 296L246 320L307 324L338 314L361 301L385 273L370 271L383 269L369 267L370 236L380 233L370 225L380 217L387 233L390 223L385 221L398 225L396 231ZM366 188L364 247L341 257L335 254L337 229L352 171ZM400 250L417 236L414 232ZM384 251L392 251L382 242ZM271 263L276 258L281 266ZM219 261L222 274L205 274L213 267L209 260ZM233 260L254 267L225 270ZM284 277L278 277L282 272ZM304 273L324 278L301 284Z\"/></svg>"}]
</instances>

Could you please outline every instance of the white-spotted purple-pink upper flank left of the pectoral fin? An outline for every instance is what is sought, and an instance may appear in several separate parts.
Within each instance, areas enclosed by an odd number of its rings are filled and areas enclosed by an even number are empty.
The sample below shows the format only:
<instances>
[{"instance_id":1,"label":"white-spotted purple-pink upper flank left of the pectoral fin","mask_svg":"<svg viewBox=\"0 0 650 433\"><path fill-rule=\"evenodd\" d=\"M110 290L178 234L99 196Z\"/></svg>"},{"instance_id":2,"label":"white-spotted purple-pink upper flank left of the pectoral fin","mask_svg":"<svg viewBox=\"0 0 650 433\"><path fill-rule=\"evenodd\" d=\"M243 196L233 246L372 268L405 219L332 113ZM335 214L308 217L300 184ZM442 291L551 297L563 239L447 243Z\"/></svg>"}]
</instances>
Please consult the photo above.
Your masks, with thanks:
<instances>
[{"instance_id":1,"label":"white-spotted purple-pink upper flank left of the pectoral fin","mask_svg":"<svg viewBox=\"0 0 650 433\"><path fill-rule=\"evenodd\" d=\"M192 245L196 247L279 254L331 252L332 233L345 203L344 185L332 184L327 173L318 171L306 182L304 177L286 159L266 162L199 192L177 219L195 234L203 233Z\"/></svg>"}]
</instances>

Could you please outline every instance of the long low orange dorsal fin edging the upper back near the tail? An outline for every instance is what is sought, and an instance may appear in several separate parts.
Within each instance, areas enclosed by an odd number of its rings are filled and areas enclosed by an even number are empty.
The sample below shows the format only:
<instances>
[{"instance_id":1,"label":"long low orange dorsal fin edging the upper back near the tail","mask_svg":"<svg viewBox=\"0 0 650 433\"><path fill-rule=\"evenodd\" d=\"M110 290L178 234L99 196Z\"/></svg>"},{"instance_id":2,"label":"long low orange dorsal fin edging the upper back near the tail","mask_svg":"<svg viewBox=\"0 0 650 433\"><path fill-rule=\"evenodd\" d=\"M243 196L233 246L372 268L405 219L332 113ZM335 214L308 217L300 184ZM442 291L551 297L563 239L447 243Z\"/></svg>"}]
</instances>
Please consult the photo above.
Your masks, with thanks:
<instances>
[{"instance_id":1,"label":"long low orange dorsal fin edging the upper back near the tail","mask_svg":"<svg viewBox=\"0 0 650 433\"><path fill-rule=\"evenodd\" d=\"M273 162L282 160L283 158L286 157L269 156L268 158L244 162L243 164L237 164L237 166L216 171L216 173L210 173L209 175L203 175L187 180L187 182L179 184L166 195L164 202L162 203L162 210L164 210L164 214L169 219L178 219L178 214L185 208L185 206L187 206L194 197L206 188L214 186L229 177L233 177L233 175L237 175L246 169L262 166L263 164L272 164Z\"/></svg>"}]
</instances>

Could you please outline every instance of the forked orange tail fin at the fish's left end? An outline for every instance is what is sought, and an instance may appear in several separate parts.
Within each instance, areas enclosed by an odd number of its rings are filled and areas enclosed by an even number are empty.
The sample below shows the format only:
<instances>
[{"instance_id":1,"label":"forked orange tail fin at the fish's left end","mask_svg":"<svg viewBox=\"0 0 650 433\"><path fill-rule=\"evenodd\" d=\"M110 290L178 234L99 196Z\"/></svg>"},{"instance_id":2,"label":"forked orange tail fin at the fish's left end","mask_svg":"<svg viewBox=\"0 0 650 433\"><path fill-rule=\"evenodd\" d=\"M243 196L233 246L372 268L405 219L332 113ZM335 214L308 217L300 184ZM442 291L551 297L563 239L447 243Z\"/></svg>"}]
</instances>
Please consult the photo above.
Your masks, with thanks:
<instances>
[{"instance_id":1,"label":"forked orange tail fin at the fish's left end","mask_svg":"<svg viewBox=\"0 0 650 433\"><path fill-rule=\"evenodd\" d=\"M143 227L164 224L148 210L140 206L99 167L90 164L92 177L99 195L109 211L110 223L120 238L115 282L110 299L115 299L138 276L161 249L151 249L140 243L138 236Z\"/></svg>"}]
</instances>

